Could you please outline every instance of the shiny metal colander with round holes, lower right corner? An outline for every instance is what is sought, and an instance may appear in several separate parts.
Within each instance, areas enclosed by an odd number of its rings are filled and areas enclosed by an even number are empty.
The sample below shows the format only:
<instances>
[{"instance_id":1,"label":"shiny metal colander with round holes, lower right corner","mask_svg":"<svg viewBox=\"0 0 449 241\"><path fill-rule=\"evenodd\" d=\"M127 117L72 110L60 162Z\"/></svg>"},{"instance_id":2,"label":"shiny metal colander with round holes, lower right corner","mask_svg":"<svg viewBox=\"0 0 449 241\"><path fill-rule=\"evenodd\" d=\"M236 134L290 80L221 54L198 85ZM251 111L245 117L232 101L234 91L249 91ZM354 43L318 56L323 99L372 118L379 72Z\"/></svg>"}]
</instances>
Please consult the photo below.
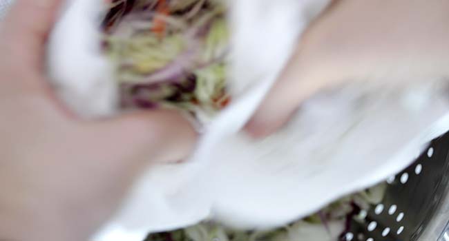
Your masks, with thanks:
<instances>
[{"instance_id":1,"label":"shiny metal colander with round holes, lower right corner","mask_svg":"<svg viewBox=\"0 0 449 241\"><path fill-rule=\"evenodd\" d=\"M388 178L383 200L359 210L342 241L449 241L449 134ZM319 241L319 240L316 240Z\"/></svg>"}]
</instances>

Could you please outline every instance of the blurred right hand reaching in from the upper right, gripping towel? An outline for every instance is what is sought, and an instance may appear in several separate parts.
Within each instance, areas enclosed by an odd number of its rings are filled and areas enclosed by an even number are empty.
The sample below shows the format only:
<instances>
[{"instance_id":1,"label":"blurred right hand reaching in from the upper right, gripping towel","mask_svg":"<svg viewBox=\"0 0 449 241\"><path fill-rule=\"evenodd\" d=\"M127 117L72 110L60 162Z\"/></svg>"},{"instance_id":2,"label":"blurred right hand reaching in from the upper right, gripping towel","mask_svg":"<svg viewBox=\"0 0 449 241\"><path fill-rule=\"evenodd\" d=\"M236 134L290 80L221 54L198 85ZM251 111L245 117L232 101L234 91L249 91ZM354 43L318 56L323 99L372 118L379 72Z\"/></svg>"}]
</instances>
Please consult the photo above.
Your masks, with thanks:
<instances>
[{"instance_id":1,"label":"blurred right hand reaching in from the upper right, gripping towel","mask_svg":"<svg viewBox=\"0 0 449 241\"><path fill-rule=\"evenodd\" d=\"M448 10L443 0L334 1L305 32L247 130L267 136L307 98L347 81L448 76Z\"/></svg>"}]
</instances>

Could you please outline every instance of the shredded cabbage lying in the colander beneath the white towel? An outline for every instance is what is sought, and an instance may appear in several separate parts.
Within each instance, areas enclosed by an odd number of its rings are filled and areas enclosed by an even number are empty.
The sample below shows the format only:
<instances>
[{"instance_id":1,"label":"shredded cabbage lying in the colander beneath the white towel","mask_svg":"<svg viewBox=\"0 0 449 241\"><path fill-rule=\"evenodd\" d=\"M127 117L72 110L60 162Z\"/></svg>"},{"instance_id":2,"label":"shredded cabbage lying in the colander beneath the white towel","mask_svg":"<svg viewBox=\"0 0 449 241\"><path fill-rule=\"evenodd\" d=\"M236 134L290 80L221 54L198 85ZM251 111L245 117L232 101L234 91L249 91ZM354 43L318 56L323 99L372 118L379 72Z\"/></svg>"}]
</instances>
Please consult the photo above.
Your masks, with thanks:
<instances>
[{"instance_id":1,"label":"shredded cabbage lying in the colander beneath the white towel","mask_svg":"<svg viewBox=\"0 0 449 241\"><path fill-rule=\"evenodd\" d=\"M365 217L348 216L354 212L354 209L369 211L370 207L378 204L383 199L386 184L376 185L365 191L361 191L354 195L346 196L340 200L333 202L323 208L319 213L314 213L307 218L303 218L285 227L273 230L257 231L257 230L236 230L228 229L222 224L204 221L192 227L178 229L166 233L150 234L146 241L296 241L298 239L298 230L307 229L312 224L323 225L323 231L326 230L327 222L345 223L347 218L354 218L358 222L365 222ZM356 210L355 210L356 211ZM323 217L324 216L324 217ZM324 218L324 219L323 219ZM291 238L288 238L291 237ZM321 241L321 240L307 240Z\"/></svg>"}]
</instances>

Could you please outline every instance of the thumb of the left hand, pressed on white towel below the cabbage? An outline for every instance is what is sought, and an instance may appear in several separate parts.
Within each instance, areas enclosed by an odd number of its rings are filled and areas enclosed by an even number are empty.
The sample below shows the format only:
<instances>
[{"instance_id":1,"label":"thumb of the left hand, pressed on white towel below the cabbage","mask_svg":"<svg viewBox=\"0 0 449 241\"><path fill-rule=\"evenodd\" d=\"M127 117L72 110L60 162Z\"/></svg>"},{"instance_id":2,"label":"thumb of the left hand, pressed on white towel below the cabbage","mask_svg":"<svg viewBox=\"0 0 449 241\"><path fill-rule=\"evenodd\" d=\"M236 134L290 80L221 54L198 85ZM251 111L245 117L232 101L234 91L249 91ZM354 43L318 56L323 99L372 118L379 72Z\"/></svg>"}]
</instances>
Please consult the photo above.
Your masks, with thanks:
<instances>
[{"instance_id":1,"label":"thumb of the left hand, pressed on white towel below the cabbage","mask_svg":"<svg viewBox=\"0 0 449 241\"><path fill-rule=\"evenodd\" d=\"M142 167L149 162L176 162L187 158L195 147L197 134L178 112L155 110L136 112L89 126L87 132L106 162L118 166ZM95 144L94 144L95 143ZM95 149L93 150L95 151ZM130 160L135 160L131 163Z\"/></svg>"}]
</instances>

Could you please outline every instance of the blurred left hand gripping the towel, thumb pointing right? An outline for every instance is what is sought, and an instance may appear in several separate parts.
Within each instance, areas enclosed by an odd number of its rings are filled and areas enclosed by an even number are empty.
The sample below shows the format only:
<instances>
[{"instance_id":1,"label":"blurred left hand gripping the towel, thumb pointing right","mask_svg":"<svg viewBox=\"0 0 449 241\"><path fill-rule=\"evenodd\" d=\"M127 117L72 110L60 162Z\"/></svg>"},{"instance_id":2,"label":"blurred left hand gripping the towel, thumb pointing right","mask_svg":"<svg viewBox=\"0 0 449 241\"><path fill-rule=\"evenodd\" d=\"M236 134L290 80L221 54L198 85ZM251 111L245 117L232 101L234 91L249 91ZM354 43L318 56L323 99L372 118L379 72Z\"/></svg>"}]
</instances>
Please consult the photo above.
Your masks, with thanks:
<instances>
[{"instance_id":1,"label":"blurred left hand gripping the towel, thumb pointing right","mask_svg":"<svg viewBox=\"0 0 449 241\"><path fill-rule=\"evenodd\" d=\"M185 158L195 132L173 112L82 121L44 73L59 0L18 0L0 30L0 240L87 240L151 163Z\"/></svg>"}]
</instances>

